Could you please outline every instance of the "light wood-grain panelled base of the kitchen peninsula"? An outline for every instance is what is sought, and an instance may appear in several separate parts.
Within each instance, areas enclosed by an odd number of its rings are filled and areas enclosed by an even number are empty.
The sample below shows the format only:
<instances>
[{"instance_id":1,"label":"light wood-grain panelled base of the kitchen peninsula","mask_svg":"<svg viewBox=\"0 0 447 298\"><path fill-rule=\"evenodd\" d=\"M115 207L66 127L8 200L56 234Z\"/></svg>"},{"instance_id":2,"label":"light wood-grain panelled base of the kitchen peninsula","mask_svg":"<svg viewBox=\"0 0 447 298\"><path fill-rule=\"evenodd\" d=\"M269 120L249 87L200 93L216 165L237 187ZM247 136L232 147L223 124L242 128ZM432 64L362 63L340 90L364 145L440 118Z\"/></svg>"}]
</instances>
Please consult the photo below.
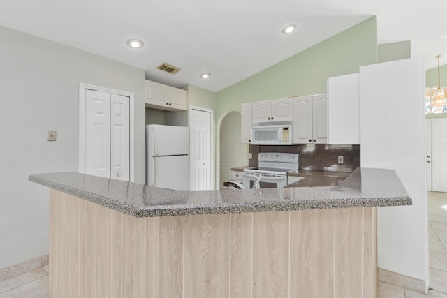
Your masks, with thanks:
<instances>
[{"instance_id":1,"label":"light wood-grain panelled base of the kitchen peninsula","mask_svg":"<svg viewBox=\"0 0 447 298\"><path fill-rule=\"evenodd\" d=\"M135 218L50 190L51 297L376 297L376 208Z\"/></svg>"}]
</instances>

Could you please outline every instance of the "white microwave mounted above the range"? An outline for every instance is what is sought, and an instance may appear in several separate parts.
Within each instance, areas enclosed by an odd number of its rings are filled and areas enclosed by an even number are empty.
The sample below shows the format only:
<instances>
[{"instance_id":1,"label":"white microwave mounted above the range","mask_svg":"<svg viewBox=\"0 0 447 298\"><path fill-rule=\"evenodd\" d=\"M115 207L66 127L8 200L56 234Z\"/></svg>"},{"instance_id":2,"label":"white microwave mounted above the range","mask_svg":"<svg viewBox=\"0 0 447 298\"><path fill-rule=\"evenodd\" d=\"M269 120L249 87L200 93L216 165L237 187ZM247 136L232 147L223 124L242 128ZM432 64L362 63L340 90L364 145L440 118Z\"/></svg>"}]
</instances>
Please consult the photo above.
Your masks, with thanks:
<instances>
[{"instance_id":1,"label":"white microwave mounted above the range","mask_svg":"<svg viewBox=\"0 0 447 298\"><path fill-rule=\"evenodd\" d=\"M253 145L291 145L292 137L292 124L251 126Z\"/></svg>"}]
</instances>

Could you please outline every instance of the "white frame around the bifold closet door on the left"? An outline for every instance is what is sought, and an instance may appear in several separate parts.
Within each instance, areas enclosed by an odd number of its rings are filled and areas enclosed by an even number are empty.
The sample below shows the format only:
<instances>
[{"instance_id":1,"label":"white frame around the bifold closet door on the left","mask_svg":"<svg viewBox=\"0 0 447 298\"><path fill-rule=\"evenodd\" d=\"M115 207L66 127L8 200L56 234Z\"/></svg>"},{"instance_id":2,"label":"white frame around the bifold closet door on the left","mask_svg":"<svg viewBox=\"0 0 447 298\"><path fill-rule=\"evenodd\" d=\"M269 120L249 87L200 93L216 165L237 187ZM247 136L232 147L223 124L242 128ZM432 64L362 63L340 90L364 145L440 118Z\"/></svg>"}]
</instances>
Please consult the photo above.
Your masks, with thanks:
<instances>
[{"instance_id":1,"label":"white frame around the bifold closet door on the left","mask_svg":"<svg viewBox=\"0 0 447 298\"><path fill-rule=\"evenodd\" d=\"M130 121L130 148L129 148L129 157L130 157L130 181L135 181L134 177L134 162L135 162L135 133L134 133L134 126L135 126L135 117L134 117L134 110L135 110L135 102L134 102L134 95L133 93L126 92L126 91L120 91L105 87L99 87L91 84L85 84L80 83L79 84L79 172L85 173L85 91L87 89L90 90L96 90L96 91L103 91L103 92L109 92L113 94L118 94L122 96L128 96L129 97L129 121Z\"/></svg>"}]
</instances>

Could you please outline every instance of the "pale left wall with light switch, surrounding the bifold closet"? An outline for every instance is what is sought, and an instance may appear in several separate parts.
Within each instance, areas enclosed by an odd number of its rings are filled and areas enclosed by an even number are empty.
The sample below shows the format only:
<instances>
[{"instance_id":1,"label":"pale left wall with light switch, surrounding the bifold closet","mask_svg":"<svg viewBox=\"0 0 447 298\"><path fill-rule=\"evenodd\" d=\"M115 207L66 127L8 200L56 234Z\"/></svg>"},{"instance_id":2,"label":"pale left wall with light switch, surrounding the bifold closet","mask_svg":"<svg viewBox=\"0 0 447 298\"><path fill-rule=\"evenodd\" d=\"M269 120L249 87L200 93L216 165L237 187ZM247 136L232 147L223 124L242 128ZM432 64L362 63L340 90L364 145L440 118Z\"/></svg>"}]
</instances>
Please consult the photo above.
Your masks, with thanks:
<instances>
[{"instance_id":1,"label":"pale left wall with light switch, surrounding the bifold closet","mask_svg":"<svg viewBox=\"0 0 447 298\"><path fill-rule=\"evenodd\" d=\"M145 72L0 27L0 268L48 253L48 189L30 174L78 172L80 82L135 94L135 182L145 181ZM57 131L47 142L46 131Z\"/></svg>"}]
</instances>

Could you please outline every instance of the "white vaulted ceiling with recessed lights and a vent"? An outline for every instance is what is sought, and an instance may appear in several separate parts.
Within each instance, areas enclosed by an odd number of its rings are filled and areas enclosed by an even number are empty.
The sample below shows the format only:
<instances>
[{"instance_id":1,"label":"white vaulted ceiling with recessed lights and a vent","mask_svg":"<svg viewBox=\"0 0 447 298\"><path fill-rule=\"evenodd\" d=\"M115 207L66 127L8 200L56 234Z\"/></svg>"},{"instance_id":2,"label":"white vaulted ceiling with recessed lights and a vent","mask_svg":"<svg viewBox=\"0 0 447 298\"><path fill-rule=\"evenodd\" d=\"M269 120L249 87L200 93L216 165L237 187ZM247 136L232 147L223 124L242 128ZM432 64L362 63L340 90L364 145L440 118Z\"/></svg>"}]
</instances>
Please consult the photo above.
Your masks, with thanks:
<instances>
[{"instance_id":1,"label":"white vaulted ceiling with recessed lights and a vent","mask_svg":"<svg viewBox=\"0 0 447 298\"><path fill-rule=\"evenodd\" d=\"M379 44L410 40L427 69L437 54L447 64L446 10L445 0L2 0L0 25L142 68L149 80L220 91L374 15ZM281 33L291 23L297 30ZM130 38L145 46L131 49ZM156 69L163 62L182 70Z\"/></svg>"}]
</instances>

